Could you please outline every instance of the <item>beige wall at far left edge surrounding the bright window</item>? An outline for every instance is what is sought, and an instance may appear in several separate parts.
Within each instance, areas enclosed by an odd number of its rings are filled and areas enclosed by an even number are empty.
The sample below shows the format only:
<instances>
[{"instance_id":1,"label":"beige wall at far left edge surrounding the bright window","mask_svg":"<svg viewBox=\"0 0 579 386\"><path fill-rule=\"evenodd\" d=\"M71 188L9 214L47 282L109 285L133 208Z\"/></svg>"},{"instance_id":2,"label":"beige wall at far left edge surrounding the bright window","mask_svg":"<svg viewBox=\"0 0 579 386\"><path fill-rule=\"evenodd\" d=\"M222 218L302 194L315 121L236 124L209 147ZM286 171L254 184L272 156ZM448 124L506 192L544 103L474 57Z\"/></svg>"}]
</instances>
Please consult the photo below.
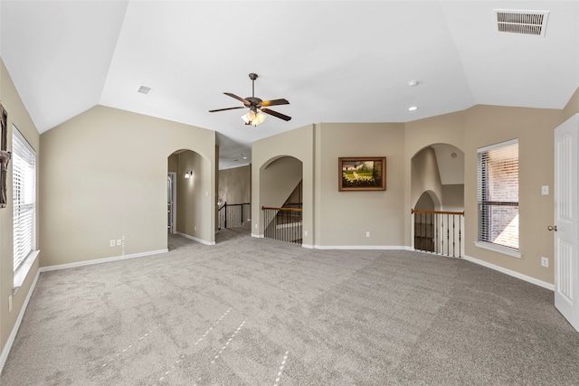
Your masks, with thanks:
<instances>
[{"instance_id":1,"label":"beige wall at far left edge surrounding the bright window","mask_svg":"<svg viewBox=\"0 0 579 386\"><path fill-rule=\"evenodd\" d=\"M18 92L14 88L14 83L10 78L10 74L5 68L4 61L0 60L0 101L8 114L8 151L12 151L12 127L18 127L18 130L24 135L26 140L36 150L37 170L42 161L39 159L40 151L40 135L34 126L33 120L28 115L28 111L24 108L24 103ZM33 263L27 278L24 280L22 287L13 295L12 287L14 283L14 248L13 248L13 207L12 207L12 161L8 165L8 174L6 175L6 199L7 204L5 208L0 209L0 353L5 349L6 341L8 340L18 314L22 311L24 301L30 287L33 284L33 279L38 271L38 259ZM37 186L39 180L39 173L36 174ZM37 204L38 190L37 190ZM38 212L36 213L38 224ZM37 226L38 229L38 226ZM37 231L37 240L38 234ZM37 248L41 248L40 244L36 243ZM8 313L8 297L13 297L12 312Z\"/></svg>"}]
</instances>

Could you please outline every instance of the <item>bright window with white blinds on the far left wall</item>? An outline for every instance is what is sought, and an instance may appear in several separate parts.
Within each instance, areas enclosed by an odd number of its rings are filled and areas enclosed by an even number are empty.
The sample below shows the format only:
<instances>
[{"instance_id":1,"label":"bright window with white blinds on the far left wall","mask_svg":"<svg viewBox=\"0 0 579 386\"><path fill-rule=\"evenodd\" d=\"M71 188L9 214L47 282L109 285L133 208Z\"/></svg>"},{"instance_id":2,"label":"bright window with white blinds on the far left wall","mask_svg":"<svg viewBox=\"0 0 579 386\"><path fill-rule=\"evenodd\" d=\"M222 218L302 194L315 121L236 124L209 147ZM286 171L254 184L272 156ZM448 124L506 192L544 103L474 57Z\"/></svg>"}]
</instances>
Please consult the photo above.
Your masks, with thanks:
<instances>
[{"instance_id":1,"label":"bright window with white blinds on the far left wall","mask_svg":"<svg viewBox=\"0 0 579 386\"><path fill-rule=\"evenodd\" d=\"M14 126L12 133L15 272L36 249L36 152Z\"/></svg>"}]
</instances>

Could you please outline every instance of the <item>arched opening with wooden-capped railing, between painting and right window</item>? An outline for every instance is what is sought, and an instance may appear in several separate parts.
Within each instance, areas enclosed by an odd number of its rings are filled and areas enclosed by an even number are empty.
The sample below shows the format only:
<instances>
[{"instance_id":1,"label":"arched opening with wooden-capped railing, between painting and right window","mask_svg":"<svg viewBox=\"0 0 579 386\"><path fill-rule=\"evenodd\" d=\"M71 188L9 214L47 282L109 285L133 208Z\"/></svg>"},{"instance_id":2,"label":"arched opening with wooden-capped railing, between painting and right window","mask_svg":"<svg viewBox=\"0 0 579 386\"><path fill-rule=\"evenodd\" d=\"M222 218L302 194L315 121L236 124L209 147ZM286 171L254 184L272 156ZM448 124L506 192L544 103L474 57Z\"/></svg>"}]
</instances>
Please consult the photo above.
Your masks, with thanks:
<instances>
[{"instance_id":1,"label":"arched opening with wooden-capped railing, between painting and right window","mask_svg":"<svg viewBox=\"0 0 579 386\"><path fill-rule=\"evenodd\" d=\"M450 256L464 252L464 153L448 144L423 147L412 158L414 249Z\"/></svg>"}]
</instances>

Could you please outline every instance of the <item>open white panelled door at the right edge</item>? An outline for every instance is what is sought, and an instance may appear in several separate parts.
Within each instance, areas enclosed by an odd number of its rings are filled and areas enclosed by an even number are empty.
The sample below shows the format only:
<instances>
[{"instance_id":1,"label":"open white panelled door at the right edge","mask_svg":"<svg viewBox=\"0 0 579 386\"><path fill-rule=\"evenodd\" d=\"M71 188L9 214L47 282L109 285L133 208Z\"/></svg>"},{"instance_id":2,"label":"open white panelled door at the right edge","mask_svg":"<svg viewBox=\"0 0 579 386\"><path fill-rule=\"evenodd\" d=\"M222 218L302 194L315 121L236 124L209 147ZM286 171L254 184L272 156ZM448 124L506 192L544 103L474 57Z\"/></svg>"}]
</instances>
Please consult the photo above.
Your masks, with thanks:
<instances>
[{"instance_id":1,"label":"open white panelled door at the right edge","mask_svg":"<svg viewBox=\"0 0 579 386\"><path fill-rule=\"evenodd\" d=\"M555 129L555 307L579 331L577 264L577 126L579 115Z\"/></svg>"}]
</instances>

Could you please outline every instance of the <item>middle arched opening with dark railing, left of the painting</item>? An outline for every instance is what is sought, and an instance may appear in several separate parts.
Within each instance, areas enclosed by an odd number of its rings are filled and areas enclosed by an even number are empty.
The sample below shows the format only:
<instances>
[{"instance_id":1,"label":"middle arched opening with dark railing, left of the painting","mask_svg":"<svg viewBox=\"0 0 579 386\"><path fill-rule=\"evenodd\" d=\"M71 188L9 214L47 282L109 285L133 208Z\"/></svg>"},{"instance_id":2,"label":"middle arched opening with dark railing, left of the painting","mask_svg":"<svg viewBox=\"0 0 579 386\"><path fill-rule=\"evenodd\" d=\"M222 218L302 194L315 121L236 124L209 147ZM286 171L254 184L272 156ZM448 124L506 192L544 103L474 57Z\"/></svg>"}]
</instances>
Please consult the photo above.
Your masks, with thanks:
<instances>
[{"instance_id":1,"label":"middle arched opening with dark railing, left of the painting","mask_svg":"<svg viewBox=\"0 0 579 386\"><path fill-rule=\"evenodd\" d=\"M260 168L260 207L263 236L301 244L303 164L282 155Z\"/></svg>"}]
</instances>

